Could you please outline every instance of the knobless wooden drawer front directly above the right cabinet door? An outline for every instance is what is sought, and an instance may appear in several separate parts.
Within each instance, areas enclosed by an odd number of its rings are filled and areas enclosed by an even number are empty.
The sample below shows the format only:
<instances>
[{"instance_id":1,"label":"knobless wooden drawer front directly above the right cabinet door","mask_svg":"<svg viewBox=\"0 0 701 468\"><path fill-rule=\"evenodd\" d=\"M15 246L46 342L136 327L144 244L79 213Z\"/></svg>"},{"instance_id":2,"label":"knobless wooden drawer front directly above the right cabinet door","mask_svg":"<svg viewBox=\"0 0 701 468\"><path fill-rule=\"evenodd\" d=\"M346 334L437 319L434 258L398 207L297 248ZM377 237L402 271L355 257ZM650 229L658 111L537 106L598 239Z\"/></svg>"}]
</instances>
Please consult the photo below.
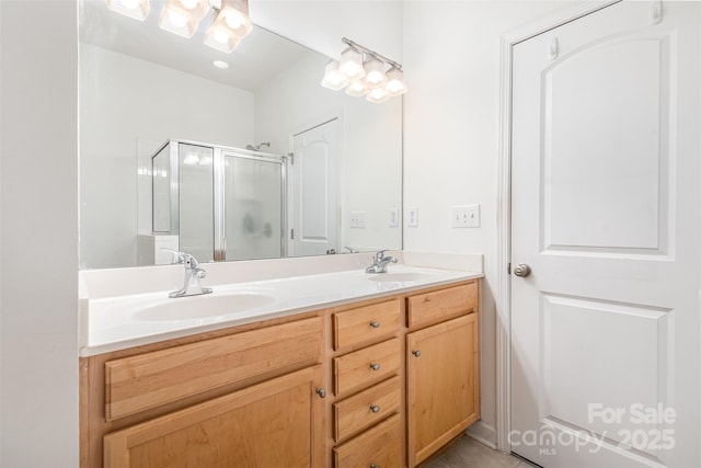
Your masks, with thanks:
<instances>
[{"instance_id":1,"label":"knobless wooden drawer front directly above the right cabinet door","mask_svg":"<svg viewBox=\"0 0 701 468\"><path fill-rule=\"evenodd\" d=\"M473 281L460 286L417 294L406 298L409 327L433 323L478 310L479 286Z\"/></svg>"}]
</instances>

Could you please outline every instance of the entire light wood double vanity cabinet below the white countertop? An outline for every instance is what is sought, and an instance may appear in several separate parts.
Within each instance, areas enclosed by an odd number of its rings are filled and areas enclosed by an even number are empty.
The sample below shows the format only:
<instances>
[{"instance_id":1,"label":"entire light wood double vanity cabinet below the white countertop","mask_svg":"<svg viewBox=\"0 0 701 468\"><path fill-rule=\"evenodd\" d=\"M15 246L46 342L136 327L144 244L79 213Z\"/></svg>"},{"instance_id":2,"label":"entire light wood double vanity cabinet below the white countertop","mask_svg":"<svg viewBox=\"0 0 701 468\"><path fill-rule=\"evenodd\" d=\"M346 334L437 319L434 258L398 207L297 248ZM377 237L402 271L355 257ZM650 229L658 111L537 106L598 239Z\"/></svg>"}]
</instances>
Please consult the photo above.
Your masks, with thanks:
<instances>
[{"instance_id":1,"label":"entire light wood double vanity cabinet below the white countertop","mask_svg":"<svg viewBox=\"0 0 701 468\"><path fill-rule=\"evenodd\" d=\"M81 468L413 468L479 418L479 281L81 358L80 372Z\"/></svg>"}]
</instances>

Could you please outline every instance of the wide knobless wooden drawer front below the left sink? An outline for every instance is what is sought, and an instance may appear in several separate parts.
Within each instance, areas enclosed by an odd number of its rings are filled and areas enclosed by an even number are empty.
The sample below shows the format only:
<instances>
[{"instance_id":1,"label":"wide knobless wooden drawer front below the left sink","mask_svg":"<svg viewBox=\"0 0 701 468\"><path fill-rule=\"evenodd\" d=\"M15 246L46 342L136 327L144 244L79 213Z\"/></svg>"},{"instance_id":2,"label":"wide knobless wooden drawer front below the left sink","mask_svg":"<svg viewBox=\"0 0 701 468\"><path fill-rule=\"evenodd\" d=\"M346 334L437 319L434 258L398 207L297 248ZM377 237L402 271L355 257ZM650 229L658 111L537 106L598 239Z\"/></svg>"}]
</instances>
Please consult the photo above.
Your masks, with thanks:
<instances>
[{"instance_id":1,"label":"wide knobless wooden drawer front below the left sink","mask_svg":"<svg viewBox=\"0 0 701 468\"><path fill-rule=\"evenodd\" d=\"M112 421L246 378L321 362L322 321L312 317L105 363Z\"/></svg>"}]
</instances>

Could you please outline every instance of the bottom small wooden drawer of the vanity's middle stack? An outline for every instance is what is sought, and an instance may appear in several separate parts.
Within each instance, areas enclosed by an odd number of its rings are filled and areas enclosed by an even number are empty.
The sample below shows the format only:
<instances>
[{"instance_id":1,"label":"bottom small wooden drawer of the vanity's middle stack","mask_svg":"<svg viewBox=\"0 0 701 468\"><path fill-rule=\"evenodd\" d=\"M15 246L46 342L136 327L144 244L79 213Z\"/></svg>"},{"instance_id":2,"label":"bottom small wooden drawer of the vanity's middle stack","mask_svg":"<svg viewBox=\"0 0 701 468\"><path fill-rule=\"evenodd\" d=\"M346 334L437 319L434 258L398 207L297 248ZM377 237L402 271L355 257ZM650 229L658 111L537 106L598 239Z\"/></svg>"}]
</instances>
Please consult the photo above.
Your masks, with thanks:
<instances>
[{"instance_id":1,"label":"bottom small wooden drawer of the vanity's middle stack","mask_svg":"<svg viewBox=\"0 0 701 468\"><path fill-rule=\"evenodd\" d=\"M335 468L402 466L402 426L399 414L333 449Z\"/></svg>"}]
</instances>

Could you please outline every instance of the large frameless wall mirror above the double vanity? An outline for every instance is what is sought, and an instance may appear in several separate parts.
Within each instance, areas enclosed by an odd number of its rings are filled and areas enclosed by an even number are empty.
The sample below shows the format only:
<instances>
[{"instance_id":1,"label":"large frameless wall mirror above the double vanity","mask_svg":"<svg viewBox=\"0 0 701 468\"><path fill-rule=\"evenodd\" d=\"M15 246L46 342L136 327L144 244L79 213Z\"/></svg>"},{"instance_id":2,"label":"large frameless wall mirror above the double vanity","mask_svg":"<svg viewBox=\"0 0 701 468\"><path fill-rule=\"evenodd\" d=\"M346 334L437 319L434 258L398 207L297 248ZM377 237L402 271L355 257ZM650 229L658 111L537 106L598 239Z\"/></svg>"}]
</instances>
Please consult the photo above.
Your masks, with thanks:
<instances>
[{"instance_id":1,"label":"large frameless wall mirror above the double vanity","mask_svg":"<svg viewBox=\"0 0 701 468\"><path fill-rule=\"evenodd\" d=\"M79 1L81 269L401 249L401 98L322 88L327 57L260 26L231 54L176 36L161 5Z\"/></svg>"}]
</instances>

